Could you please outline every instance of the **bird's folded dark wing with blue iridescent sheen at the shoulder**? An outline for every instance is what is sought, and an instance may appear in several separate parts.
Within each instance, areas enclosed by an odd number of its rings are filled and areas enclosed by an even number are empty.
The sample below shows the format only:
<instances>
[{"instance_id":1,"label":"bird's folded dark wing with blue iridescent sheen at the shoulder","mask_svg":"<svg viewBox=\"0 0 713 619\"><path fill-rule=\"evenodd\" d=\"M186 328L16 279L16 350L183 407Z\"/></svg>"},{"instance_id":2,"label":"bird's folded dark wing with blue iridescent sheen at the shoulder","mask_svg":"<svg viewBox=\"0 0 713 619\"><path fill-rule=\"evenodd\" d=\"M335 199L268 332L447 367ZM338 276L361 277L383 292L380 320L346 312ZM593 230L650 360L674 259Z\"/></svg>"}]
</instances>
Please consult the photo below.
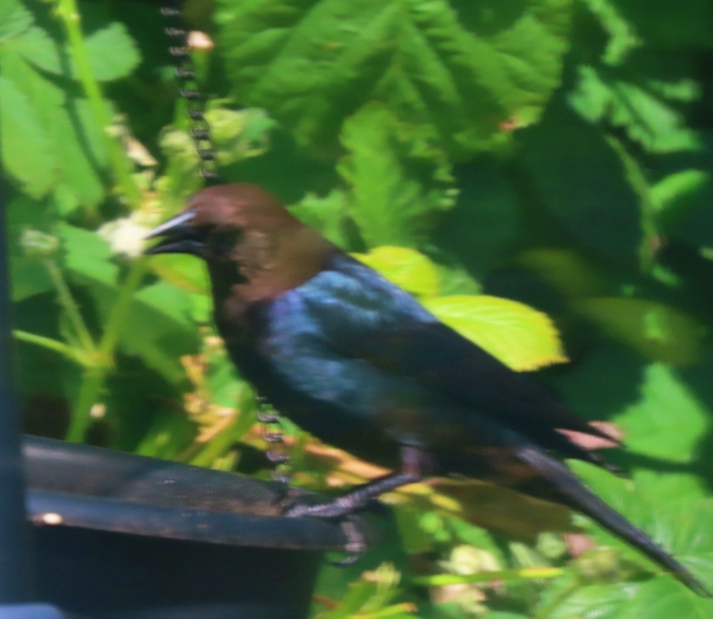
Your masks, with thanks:
<instances>
[{"instance_id":1,"label":"bird's folded dark wing with blue iridescent sheen at the shoulder","mask_svg":"<svg viewBox=\"0 0 713 619\"><path fill-rule=\"evenodd\" d=\"M300 295L339 354L408 377L565 456L588 452L558 429L612 439L346 255L302 285Z\"/></svg>"}]
</instances>

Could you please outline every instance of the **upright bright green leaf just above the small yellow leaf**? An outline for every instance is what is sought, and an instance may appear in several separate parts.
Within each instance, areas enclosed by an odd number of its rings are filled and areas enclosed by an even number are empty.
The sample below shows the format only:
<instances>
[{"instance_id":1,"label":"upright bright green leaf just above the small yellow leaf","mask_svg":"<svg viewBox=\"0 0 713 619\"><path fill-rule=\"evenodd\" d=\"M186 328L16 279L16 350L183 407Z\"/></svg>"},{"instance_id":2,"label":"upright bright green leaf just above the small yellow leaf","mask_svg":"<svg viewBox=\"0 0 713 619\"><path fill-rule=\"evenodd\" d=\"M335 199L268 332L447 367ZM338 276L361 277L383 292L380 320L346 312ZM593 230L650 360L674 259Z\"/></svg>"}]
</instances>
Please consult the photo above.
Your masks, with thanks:
<instances>
[{"instance_id":1,"label":"upright bright green leaf just above the small yellow leaf","mask_svg":"<svg viewBox=\"0 0 713 619\"><path fill-rule=\"evenodd\" d=\"M453 205L445 155L385 108L349 118L342 143L349 155L337 170L349 185L347 211L370 247L415 245L434 213Z\"/></svg>"}]
</instances>

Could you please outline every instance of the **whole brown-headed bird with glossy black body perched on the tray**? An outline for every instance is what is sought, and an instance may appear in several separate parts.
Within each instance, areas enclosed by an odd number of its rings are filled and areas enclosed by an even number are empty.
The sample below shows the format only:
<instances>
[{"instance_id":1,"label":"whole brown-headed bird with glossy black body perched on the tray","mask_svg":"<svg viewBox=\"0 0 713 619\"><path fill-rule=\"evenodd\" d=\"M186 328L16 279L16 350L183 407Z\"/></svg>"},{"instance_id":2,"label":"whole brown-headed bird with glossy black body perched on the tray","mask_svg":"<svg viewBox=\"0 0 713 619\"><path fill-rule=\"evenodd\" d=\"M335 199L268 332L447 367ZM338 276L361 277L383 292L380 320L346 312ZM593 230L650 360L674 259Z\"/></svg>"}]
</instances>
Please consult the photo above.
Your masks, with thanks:
<instances>
[{"instance_id":1,"label":"whole brown-headed bird with glossy black body perched on the tray","mask_svg":"<svg viewBox=\"0 0 713 619\"><path fill-rule=\"evenodd\" d=\"M349 516L429 476L491 481L562 503L699 595L679 561L585 486L563 459L614 471L577 434L620 444L528 377L304 225L257 185L200 190L145 254L207 265L217 331L258 394L322 441L394 471L291 517Z\"/></svg>"}]
</instances>

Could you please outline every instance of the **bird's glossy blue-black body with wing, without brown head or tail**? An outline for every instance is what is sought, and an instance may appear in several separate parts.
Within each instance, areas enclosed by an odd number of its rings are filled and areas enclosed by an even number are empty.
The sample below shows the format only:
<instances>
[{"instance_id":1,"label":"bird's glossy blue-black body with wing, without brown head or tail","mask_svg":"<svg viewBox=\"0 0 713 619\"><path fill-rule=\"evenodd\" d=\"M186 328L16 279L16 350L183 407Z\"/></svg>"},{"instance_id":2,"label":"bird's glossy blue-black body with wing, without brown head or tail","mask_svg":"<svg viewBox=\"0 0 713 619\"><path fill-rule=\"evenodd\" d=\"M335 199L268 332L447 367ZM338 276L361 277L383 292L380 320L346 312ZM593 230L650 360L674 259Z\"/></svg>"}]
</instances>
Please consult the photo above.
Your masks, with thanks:
<instances>
[{"instance_id":1,"label":"bird's glossy blue-black body with wing, without brown head or tail","mask_svg":"<svg viewBox=\"0 0 713 619\"><path fill-rule=\"evenodd\" d=\"M448 451L515 436L568 448L552 426L553 415L562 421L558 404L347 255L242 320L249 337L228 348L243 374L297 424L344 449L395 441ZM574 417L566 424L588 429Z\"/></svg>"}]
</instances>

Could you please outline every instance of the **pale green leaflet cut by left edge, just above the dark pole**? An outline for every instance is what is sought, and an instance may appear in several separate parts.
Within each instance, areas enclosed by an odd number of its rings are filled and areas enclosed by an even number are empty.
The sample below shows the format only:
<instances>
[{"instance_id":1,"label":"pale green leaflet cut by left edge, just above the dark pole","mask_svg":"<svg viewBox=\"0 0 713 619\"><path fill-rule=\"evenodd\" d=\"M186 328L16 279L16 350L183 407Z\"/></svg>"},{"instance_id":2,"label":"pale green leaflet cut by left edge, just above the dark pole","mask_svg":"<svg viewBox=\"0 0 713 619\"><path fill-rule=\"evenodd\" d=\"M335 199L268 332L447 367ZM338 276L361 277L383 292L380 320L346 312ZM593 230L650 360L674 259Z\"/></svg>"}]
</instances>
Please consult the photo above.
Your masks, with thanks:
<instances>
[{"instance_id":1,"label":"pale green leaflet cut by left edge, just above the dark pole","mask_svg":"<svg viewBox=\"0 0 713 619\"><path fill-rule=\"evenodd\" d=\"M15 84L0 77L0 154L5 170L24 191L39 198L54 182L51 146L28 98Z\"/></svg>"}]
</instances>

